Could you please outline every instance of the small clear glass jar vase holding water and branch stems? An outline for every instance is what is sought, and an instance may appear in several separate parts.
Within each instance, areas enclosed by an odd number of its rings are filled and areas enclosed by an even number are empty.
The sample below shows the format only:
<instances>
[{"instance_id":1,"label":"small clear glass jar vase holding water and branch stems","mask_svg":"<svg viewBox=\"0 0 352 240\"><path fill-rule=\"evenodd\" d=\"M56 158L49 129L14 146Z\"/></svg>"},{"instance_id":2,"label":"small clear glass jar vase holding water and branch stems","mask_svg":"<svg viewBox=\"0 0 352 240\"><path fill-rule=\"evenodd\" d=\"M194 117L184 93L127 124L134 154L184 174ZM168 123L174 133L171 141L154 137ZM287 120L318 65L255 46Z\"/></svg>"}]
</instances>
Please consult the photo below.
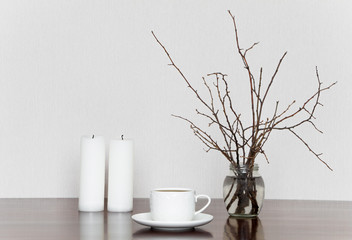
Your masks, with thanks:
<instances>
[{"instance_id":1,"label":"small clear glass jar vase holding water and branch stems","mask_svg":"<svg viewBox=\"0 0 352 240\"><path fill-rule=\"evenodd\" d=\"M264 200L264 181L258 165L230 165L223 185L223 197L230 216L251 218L259 215Z\"/></svg>"}]
</instances>

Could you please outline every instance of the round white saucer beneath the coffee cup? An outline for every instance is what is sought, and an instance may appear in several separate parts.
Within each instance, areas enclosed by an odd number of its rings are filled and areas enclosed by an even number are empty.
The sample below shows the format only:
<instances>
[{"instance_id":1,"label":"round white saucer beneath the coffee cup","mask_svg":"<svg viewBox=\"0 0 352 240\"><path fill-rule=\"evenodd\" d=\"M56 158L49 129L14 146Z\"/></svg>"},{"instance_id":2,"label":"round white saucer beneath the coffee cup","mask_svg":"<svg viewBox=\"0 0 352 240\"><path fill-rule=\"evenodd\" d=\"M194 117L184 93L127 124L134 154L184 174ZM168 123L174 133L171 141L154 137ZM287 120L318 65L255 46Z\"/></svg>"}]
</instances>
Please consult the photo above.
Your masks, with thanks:
<instances>
[{"instance_id":1,"label":"round white saucer beneath the coffee cup","mask_svg":"<svg viewBox=\"0 0 352 240\"><path fill-rule=\"evenodd\" d=\"M132 216L132 219L142 225L152 227L153 229L163 231L184 231L194 227L205 225L211 220L213 216L205 213L197 214L191 221L182 222L165 222L165 221L154 221L151 219L150 213L139 213Z\"/></svg>"}]
</instances>

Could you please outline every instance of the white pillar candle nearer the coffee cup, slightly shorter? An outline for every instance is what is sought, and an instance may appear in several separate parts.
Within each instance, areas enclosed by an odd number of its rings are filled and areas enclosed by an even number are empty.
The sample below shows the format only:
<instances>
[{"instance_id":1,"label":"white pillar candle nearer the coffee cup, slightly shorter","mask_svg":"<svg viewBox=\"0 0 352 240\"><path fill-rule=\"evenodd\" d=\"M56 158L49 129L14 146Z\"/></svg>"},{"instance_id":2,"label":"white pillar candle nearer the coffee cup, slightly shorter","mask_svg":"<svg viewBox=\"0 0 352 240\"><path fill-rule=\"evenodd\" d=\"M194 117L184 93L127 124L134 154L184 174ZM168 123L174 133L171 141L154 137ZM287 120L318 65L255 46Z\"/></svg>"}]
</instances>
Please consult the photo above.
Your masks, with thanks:
<instances>
[{"instance_id":1,"label":"white pillar candle nearer the coffee cup, slightly shorter","mask_svg":"<svg viewBox=\"0 0 352 240\"><path fill-rule=\"evenodd\" d=\"M109 150L108 211L133 209L133 141L111 140Z\"/></svg>"}]
</instances>

